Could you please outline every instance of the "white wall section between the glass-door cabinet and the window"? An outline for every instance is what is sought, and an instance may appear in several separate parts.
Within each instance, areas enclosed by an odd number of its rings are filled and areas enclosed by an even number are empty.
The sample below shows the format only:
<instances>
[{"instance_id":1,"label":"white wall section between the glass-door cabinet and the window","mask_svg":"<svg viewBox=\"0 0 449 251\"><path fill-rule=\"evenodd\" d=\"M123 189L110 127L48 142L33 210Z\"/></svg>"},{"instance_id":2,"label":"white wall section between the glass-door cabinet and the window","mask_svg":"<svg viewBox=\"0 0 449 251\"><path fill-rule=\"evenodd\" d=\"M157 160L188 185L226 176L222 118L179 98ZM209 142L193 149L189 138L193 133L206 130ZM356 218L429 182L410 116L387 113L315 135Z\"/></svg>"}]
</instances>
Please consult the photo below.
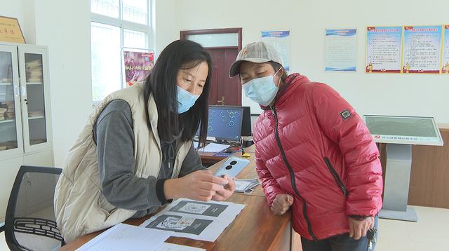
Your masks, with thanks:
<instances>
[{"instance_id":1,"label":"white wall section between the glass-door cabinet and the window","mask_svg":"<svg viewBox=\"0 0 449 251\"><path fill-rule=\"evenodd\" d=\"M61 168L92 110L91 7L89 0L34 1L36 43L50 51L53 149Z\"/></svg>"}]
</instances>

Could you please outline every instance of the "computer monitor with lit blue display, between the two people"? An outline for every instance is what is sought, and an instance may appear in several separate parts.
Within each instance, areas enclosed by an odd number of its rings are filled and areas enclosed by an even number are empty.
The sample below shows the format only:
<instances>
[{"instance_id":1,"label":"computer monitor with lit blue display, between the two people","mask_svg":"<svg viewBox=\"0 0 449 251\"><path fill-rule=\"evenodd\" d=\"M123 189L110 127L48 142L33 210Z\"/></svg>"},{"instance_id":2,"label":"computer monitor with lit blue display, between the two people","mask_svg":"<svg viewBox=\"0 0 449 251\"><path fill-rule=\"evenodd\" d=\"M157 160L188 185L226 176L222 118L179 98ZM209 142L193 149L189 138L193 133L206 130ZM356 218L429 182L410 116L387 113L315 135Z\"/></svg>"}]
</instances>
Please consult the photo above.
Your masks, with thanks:
<instances>
[{"instance_id":1,"label":"computer monitor with lit blue display, between the two people","mask_svg":"<svg viewBox=\"0 0 449 251\"><path fill-rule=\"evenodd\" d=\"M210 105L208 137L216 140L240 141L243 107ZM196 132L199 135L199 131Z\"/></svg>"}]
</instances>

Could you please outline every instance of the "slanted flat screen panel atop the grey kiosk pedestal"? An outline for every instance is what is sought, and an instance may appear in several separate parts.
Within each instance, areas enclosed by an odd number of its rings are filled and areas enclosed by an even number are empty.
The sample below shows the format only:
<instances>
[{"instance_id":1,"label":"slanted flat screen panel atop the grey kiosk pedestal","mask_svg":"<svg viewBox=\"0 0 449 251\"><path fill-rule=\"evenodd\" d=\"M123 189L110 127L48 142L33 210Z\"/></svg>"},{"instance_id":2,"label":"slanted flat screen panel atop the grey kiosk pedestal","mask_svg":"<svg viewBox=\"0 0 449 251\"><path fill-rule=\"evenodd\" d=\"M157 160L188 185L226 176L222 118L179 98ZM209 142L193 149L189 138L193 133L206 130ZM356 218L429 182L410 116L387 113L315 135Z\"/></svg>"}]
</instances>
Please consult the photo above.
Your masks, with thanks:
<instances>
[{"instance_id":1,"label":"slanted flat screen panel atop the grey kiosk pedestal","mask_svg":"<svg viewBox=\"0 0 449 251\"><path fill-rule=\"evenodd\" d=\"M366 115L365 123L376 142L442 145L434 118Z\"/></svg>"}]
</instances>

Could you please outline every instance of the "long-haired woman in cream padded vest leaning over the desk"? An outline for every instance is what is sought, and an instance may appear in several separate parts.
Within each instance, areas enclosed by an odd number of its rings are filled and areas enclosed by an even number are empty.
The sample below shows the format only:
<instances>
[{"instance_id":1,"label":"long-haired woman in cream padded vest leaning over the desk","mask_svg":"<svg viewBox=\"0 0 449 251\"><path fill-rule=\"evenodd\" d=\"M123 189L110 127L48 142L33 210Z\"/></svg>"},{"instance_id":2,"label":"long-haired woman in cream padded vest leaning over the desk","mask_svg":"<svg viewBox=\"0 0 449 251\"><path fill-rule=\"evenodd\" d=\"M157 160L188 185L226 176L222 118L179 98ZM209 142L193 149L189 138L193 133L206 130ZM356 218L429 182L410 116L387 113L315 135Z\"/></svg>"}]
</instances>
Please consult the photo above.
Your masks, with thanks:
<instances>
[{"instance_id":1,"label":"long-haired woman in cream padded vest leaning over the desk","mask_svg":"<svg viewBox=\"0 0 449 251\"><path fill-rule=\"evenodd\" d=\"M112 93L69 151L55 191L66 241L143 217L173 198L223 201L230 177L203 168L192 145L206 142L212 60L178 40L159 55L145 84Z\"/></svg>"}]
</instances>

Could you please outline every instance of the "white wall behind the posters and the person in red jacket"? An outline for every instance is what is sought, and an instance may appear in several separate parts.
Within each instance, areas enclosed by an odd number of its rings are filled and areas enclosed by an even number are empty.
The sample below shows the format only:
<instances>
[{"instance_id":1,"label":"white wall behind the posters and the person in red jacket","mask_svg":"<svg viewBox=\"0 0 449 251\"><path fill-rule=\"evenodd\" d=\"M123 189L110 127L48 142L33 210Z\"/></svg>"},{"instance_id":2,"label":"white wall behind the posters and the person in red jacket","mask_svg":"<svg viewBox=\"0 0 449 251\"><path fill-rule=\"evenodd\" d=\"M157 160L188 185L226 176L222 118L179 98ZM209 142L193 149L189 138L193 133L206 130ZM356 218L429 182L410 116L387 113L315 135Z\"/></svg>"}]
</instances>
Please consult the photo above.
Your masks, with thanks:
<instances>
[{"instance_id":1,"label":"white wall behind the posters and the person in red jacket","mask_svg":"<svg viewBox=\"0 0 449 251\"><path fill-rule=\"evenodd\" d=\"M290 72L333 86L359 114L434 116L449 123L447 75L363 72L366 26L442 25L449 23L448 9L446 0L177 0L176 15L179 29L242 27L243 46L259 41L261 30L290 29ZM324 30L352 27L358 28L358 72L324 72ZM242 104L251 103L243 95Z\"/></svg>"}]
</instances>

